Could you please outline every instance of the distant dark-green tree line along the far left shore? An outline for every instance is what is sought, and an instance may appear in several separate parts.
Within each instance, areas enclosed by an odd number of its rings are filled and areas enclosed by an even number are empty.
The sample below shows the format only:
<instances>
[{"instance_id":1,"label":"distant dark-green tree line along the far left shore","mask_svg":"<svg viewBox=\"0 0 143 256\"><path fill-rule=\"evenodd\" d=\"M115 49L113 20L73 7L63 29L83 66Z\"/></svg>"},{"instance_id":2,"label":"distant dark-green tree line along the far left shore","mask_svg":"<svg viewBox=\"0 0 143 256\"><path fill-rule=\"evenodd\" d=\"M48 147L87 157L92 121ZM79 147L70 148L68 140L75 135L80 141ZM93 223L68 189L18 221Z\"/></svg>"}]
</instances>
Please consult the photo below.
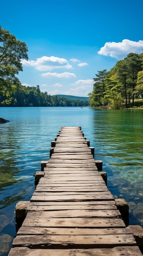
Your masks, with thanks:
<instances>
[{"instance_id":1,"label":"distant dark-green tree line along the far left shore","mask_svg":"<svg viewBox=\"0 0 143 256\"><path fill-rule=\"evenodd\" d=\"M11 92L9 104L6 95L0 97L0 102L0 106L8 107L84 107L89 105L89 101L48 95L47 92L40 91L39 85L36 87L19 85L18 90Z\"/></svg>"}]
</instances>

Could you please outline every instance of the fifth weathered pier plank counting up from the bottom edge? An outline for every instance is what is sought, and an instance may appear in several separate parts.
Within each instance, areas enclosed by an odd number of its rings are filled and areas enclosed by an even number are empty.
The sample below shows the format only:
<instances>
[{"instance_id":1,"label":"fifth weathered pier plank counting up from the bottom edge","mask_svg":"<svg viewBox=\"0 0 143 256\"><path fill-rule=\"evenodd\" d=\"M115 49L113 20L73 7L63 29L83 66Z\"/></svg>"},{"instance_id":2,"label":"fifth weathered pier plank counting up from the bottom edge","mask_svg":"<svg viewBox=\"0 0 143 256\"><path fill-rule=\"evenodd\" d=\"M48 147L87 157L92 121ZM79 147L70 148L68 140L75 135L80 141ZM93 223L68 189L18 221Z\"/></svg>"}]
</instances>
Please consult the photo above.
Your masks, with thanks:
<instances>
[{"instance_id":1,"label":"fifth weathered pier plank counting up from the bottom edge","mask_svg":"<svg viewBox=\"0 0 143 256\"><path fill-rule=\"evenodd\" d=\"M29 211L27 218L121 218L119 210Z\"/></svg>"}]
</instances>

